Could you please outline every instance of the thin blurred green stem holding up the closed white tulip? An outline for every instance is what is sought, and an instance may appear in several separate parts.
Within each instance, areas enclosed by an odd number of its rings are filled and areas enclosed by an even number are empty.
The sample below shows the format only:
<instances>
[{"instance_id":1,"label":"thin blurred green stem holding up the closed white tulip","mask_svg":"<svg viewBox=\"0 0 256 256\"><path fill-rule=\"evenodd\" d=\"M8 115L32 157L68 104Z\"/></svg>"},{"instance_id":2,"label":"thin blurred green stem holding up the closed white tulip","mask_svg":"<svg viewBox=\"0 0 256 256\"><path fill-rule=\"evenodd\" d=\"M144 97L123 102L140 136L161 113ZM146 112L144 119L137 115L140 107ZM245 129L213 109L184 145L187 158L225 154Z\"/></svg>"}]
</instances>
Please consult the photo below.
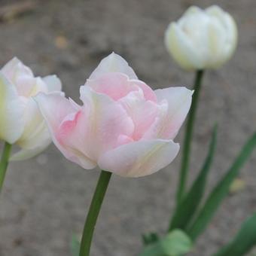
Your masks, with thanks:
<instances>
[{"instance_id":1,"label":"thin blurred green stem holding up the closed white tulip","mask_svg":"<svg viewBox=\"0 0 256 256\"><path fill-rule=\"evenodd\" d=\"M203 78L203 70L198 70L196 72L196 77L194 80L194 95L191 103L190 112L187 117L185 138L184 138L184 144L182 149L178 193L176 195L177 205L181 202L181 199L184 194L185 186L186 186L186 181L187 181L187 170L188 170L189 160L190 160L191 140L192 140L192 135L194 130L194 120L197 112L197 105L198 105L198 99L200 96L202 78Z\"/></svg>"}]
</instances>

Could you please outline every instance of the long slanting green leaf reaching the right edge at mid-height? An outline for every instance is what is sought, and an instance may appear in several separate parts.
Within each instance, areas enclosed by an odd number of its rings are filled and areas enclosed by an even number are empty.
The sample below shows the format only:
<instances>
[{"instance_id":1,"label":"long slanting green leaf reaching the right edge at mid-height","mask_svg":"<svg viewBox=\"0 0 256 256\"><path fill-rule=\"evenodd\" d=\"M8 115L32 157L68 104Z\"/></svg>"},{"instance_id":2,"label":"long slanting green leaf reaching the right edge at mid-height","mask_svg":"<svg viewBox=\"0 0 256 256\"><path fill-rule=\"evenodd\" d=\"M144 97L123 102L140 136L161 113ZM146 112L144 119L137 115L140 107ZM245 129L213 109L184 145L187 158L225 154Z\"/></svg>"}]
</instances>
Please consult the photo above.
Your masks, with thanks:
<instances>
[{"instance_id":1,"label":"long slanting green leaf reaching the right edge at mid-height","mask_svg":"<svg viewBox=\"0 0 256 256\"><path fill-rule=\"evenodd\" d=\"M212 193L206 200L205 205L200 210L199 214L197 215L196 220L190 227L186 230L187 234L192 239L197 239L197 236L205 230L207 224L212 219L212 216L215 214L218 206L220 205L221 201L226 197L229 191L230 184L232 183L233 179L236 178L236 175L239 172L239 169L251 155L251 152L254 150L256 146L256 133L248 139L248 142L245 143L242 151L236 157L236 160L233 162L233 165L224 175L224 177L219 181L217 186L212 190Z\"/></svg>"}]
</instances>

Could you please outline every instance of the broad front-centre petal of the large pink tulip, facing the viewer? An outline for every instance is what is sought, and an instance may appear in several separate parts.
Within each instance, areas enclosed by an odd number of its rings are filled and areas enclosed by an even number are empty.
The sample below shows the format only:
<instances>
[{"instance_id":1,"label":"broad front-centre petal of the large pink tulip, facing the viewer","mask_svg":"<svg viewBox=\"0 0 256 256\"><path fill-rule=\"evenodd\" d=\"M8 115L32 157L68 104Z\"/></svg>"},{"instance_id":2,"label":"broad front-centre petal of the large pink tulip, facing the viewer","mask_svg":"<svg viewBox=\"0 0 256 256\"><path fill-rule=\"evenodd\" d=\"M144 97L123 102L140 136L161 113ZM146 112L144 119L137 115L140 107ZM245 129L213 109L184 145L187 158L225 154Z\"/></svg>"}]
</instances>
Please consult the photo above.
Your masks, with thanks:
<instances>
[{"instance_id":1,"label":"broad front-centre petal of the large pink tulip, facing the viewer","mask_svg":"<svg viewBox=\"0 0 256 256\"><path fill-rule=\"evenodd\" d=\"M90 87L81 87L81 99L84 107L77 126L70 137L65 135L66 139L63 139L79 143L82 131L84 145L80 150L96 162L99 155L120 145L120 136L131 137L134 124L118 102L106 95L95 93Z\"/></svg>"}]
</instances>

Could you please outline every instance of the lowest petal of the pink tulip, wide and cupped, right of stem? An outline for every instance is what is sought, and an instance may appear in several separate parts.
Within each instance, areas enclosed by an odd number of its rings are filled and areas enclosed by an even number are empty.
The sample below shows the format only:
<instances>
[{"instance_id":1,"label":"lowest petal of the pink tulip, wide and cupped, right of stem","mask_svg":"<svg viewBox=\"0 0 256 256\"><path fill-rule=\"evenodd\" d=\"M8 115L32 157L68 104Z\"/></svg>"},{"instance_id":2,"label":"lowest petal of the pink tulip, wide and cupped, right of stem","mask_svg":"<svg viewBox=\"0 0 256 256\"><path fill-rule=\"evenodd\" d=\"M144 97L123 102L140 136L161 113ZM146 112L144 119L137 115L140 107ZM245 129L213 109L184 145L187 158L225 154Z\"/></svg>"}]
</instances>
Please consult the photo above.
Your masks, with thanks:
<instances>
[{"instance_id":1,"label":"lowest petal of the pink tulip, wide and cupped, right of stem","mask_svg":"<svg viewBox=\"0 0 256 256\"><path fill-rule=\"evenodd\" d=\"M169 140L132 142L103 154L98 165L117 175L141 177L166 167L174 160L178 150L179 145Z\"/></svg>"}]
</instances>

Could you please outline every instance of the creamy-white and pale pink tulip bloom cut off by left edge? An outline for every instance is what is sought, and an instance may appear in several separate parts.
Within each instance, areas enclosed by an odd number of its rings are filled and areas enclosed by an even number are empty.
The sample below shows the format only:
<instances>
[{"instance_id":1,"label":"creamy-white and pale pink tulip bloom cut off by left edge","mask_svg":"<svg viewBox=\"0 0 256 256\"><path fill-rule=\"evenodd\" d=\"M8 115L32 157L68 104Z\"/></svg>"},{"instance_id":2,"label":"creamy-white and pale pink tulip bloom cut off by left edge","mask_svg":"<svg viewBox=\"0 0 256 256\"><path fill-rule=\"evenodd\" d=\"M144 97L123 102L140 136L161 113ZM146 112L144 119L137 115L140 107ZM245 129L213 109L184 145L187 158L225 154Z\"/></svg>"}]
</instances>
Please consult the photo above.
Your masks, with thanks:
<instances>
[{"instance_id":1,"label":"creamy-white and pale pink tulip bloom cut off by left edge","mask_svg":"<svg viewBox=\"0 0 256 256\"><path fill-rule=\"evenodd\" d=\"M61 90L56 75L35 78L17 58L0 70L0 139L21 148L11 160L33 157L50 144L47 125L32 97L55 90Z\"/></svg>"}]
</instances>

